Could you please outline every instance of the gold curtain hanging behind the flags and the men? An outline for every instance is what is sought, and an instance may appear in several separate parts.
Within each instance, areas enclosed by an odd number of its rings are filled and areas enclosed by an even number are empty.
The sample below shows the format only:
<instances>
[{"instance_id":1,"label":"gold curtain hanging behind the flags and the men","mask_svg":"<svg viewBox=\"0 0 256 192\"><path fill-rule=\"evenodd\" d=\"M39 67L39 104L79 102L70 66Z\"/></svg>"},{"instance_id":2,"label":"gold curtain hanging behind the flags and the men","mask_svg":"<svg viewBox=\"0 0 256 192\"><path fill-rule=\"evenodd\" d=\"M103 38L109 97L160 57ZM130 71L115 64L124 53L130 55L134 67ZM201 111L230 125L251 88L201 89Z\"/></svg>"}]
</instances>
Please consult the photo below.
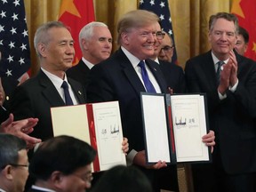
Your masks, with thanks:
<instances>
[{"instance_id":1,"label":"gold curtain hanging behind the flags and the men","mask_svg":"<svg viewBox=\"0 0 256 192\"><path fill-rule=\"evenodd\" d=\"M65 1L65 0L63 0ZM86 1L86 0L84 0ZM93 0L96 20L106 23L114 38L116 23L125 12L137 9L139 0ZM158 0L156 0L158 1ZM186 60L209 50L208 19L215 12L229 12L232 0L168 0L180 66ZM32 75L38 70L33 38L36 28L49 20L58 20L61 0L24 0L31 47Z\"/></svg>"}]
</instances>

